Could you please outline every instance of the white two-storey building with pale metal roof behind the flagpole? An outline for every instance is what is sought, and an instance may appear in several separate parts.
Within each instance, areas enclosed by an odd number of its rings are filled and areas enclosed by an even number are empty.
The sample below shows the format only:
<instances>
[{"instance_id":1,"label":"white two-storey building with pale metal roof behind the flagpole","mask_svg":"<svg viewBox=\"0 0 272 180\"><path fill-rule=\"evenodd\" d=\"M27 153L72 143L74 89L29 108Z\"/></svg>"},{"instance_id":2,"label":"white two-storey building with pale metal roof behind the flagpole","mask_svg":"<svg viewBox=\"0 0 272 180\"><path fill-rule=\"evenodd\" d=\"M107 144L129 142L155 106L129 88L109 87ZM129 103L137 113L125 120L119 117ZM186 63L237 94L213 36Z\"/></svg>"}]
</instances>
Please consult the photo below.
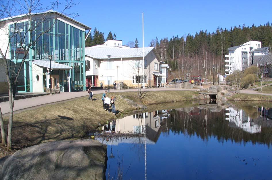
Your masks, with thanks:
<instances>
[{"instance_id":1,"label":"white two-storey building with pale metal roof behind the flagpole","mask_svg":"<svg viewBox=\"0 0 272 180\"><path fill-rule=\"evenodd\" d=\"M85 48L86 86L110 85L116 82L124 82L127 86L142 85L143 74L145 86L159 86L166 83L168 65L160 62L160 56L153 47L129 48L129 46L106 46L111 44L92 46ZM119 43L119 44L122 44ZM110 61L108 60L110 55Z\"/></svg>"}]
</instances>

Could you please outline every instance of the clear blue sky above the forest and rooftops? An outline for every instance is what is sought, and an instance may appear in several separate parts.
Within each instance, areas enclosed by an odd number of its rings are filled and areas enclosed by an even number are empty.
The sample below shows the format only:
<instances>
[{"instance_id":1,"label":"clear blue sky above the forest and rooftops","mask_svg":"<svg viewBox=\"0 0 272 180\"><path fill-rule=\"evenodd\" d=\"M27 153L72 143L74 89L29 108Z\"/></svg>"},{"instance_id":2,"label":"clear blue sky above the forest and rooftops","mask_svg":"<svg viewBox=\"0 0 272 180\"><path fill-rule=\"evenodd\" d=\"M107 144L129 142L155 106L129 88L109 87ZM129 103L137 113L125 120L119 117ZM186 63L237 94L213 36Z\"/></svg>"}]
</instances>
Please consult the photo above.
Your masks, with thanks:
<instances>
[{"instance_id":1,"label":"clear blue sky above the forest and rooftops","mask_svg":"<svg viewBox=\"0 0 272 180\"><path fill-rule=\"evenodd\" d=\"M272 22L272 0L263 1L89 1L81 0L71 12L75 19L108 35L116 33L123 44L139 40L142 47L142 12L144 13L145 46L152 39L196 34L201 29L213 32L216 28L230 29L245 23Z\"/></svg>"}]
</instances>

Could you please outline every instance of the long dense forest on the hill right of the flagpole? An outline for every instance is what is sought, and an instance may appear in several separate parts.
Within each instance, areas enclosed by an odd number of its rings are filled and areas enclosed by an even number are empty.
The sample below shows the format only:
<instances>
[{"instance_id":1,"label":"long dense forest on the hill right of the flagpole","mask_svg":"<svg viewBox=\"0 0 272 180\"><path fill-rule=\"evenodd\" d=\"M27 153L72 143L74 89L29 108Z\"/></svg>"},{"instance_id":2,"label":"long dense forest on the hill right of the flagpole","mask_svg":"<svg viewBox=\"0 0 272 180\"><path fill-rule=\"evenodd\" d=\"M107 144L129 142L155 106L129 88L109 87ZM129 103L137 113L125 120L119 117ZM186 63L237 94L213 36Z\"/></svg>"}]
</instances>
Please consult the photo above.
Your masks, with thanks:
<instances>
[{"instance_id":1,"label":"long dense forest on the hill right of the flagpole","mask_svg":"<svg viewBox=\"0 0 272 180\"><path fill-rule=\"evenodd\" d=\"M227 49L239 46L250 40L262 42L262 46L272 46L272 26L265 25L217 28L215 32L207 30L196 32L195 35L173 36L168 39L152 39L150 47L155 47L162 61L169 64L174 77L189 75L212 76L212 72L225 74L225 54ZM172 75L172 76L173 76Z\"/></svg>"}]
</instances>

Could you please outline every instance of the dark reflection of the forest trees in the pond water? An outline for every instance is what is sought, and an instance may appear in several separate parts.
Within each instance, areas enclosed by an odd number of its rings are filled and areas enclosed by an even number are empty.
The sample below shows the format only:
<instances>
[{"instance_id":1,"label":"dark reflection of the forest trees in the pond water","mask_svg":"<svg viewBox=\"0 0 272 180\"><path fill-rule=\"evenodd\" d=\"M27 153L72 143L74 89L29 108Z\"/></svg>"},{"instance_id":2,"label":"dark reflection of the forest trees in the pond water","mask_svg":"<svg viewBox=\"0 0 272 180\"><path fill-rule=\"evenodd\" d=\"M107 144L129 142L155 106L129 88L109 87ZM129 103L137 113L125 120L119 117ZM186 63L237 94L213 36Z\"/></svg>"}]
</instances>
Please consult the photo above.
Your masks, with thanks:
<instances>
[{"instance_id":1,"label":"dark reflection of the forest trees in the pond water","mask_svg":"<svg viewBox=\"0 0 272 180\"><path fill-rule=\"evenodd\" d=\"M243 107L236 106L235 108L244 109ZM256 117L258 110L250 110L246 107L248 114L253 114ZM239 120L238 114L237 119ZM202 140L208 140L211 136L215 136L219 142L224 143L224 140L236 143L252 142L253 144L272 144L272 128L262 126L261 132L250 134L244 131L242 128L235 128L229 126L229 121L225 120L225 110L220 112L210 112L206 109L195 108L190 112L172 110L170 118L167 119L168 129L164 129L164 133L170 131L175 134L188 134L188 136L196 135Z\"/></svg>"}]
</instances>

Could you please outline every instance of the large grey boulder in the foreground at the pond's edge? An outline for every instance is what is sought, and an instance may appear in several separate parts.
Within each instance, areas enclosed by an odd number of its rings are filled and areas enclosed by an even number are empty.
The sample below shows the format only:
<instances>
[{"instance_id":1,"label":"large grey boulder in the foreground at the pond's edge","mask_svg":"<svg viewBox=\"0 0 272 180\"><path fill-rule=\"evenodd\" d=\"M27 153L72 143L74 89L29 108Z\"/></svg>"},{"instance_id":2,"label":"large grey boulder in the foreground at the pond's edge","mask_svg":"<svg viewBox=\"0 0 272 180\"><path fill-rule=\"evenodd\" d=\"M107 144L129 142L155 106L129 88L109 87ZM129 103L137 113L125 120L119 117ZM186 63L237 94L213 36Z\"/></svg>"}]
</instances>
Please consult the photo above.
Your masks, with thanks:
<instances>
[{"instance_id":1,"label":"large grey boulder in the foreground at the pond's edge","mask_svg":"<svg viewBox=\"0 0 272 180\"><path fill-rule=\"evenodd\" d=\"M47 142L18 150L0 167L3 180L105 179L107 146L96 140Z\"/></svg>"}]
</instances>

